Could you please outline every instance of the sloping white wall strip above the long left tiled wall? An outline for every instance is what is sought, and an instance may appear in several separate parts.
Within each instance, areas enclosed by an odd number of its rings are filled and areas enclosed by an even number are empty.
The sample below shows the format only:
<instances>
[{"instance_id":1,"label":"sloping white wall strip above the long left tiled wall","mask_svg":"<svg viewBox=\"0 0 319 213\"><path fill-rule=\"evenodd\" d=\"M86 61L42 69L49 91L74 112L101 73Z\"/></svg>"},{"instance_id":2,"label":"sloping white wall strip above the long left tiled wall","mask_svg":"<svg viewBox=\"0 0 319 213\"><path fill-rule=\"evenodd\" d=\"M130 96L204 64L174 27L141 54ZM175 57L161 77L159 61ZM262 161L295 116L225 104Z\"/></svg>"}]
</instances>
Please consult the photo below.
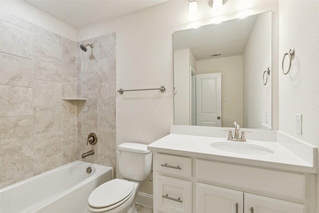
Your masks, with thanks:
<instances>
[{"instance_id":1,"label":"sloping white wall strip above the long left tiled wall","mask_svg":"<svg viewBox=\"0 0 319 213\"><path fill-rule=\"evenodd\" d=\"M22 0L0 0L0 10L5 10L35 25L41 26L63 37L77 41L76 28L31 6Z\"/></svg>"}]
</instances>

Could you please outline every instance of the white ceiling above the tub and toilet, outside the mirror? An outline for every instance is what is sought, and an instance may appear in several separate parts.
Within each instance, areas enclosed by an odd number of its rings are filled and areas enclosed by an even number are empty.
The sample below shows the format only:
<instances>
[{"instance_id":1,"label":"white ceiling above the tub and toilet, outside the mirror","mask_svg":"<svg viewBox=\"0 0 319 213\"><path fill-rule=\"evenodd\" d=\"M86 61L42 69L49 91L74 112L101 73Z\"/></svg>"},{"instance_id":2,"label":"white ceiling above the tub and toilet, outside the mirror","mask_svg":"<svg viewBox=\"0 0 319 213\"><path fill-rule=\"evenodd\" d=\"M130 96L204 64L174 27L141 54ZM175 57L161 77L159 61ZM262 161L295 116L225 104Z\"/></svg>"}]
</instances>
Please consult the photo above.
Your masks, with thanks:
<instances>
[{"instance_id":1,"label":"white ceiling above the tub and toilet, outside the mirror","mask_svg":"<svg viewBox=\"0 0 319 213\"><path fill-rule=\"evenodd\" d=\"M79 28L135 12L166 0L24 0L53 17Z\"/></svg>"}]
</instances>

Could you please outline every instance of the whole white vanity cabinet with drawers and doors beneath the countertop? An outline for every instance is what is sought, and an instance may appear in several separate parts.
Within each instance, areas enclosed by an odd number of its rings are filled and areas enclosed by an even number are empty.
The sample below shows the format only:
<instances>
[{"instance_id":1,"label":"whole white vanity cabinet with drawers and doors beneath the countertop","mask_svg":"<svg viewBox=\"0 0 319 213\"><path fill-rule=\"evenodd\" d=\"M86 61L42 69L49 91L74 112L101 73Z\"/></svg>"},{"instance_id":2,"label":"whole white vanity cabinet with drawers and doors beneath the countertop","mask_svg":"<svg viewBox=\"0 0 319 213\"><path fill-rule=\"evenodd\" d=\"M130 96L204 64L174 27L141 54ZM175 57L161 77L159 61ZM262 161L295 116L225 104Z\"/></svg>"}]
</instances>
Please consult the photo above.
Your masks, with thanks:
<instances>
[{"instance_id":1,"label":"whole white vanity cabinet with drawers and doors beneath the countertop","mask_svg":"<svg viewBox=\"0 0 319 213\"><path fill-rule=\"evenodd\" d=\"M154 153L154 213L315 213L312 177Z\"/></svg>"}]
</instances>

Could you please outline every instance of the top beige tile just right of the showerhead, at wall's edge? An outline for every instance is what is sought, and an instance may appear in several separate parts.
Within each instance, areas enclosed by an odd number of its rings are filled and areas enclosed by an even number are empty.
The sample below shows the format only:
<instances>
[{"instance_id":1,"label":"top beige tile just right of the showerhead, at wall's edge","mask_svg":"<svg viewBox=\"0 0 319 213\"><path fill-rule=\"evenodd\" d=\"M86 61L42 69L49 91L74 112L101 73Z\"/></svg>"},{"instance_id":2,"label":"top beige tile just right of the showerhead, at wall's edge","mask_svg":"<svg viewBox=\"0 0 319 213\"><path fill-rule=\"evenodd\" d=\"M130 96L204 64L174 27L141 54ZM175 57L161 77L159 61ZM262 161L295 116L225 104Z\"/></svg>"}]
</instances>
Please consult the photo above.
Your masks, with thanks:
<instances>
[{"instance_id":1,"label":"top beige tile just right of the showerhead, at wall's edge","mask_svg":"<svg viewBox=\"0 0 319 213\"><path fill-rule=\"evenodd\" d=\"M98 37L99 60L116 57L116 33Z\"/></svg>"}]
</instances>

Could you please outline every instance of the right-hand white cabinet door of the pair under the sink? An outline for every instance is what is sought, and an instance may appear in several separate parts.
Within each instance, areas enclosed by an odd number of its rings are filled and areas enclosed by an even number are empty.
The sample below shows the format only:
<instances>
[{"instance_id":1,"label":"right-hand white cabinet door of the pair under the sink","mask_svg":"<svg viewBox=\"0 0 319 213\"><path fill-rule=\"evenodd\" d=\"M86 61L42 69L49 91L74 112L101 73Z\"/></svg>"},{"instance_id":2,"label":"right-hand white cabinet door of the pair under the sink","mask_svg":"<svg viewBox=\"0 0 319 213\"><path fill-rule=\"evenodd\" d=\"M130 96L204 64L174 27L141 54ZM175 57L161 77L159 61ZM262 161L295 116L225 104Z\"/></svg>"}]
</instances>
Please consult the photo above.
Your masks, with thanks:
<instances>
[{"instance_id":1,"label":"right-hand white cabinet door of the pair under the sink","mask_svg":"<svg viewBox=\"0 0 319 213\"><path fill-rule=\"evenodd\" d=\"M244 213L306 213L302 204L245 193Z\"/></svg>"}]
</instances>

